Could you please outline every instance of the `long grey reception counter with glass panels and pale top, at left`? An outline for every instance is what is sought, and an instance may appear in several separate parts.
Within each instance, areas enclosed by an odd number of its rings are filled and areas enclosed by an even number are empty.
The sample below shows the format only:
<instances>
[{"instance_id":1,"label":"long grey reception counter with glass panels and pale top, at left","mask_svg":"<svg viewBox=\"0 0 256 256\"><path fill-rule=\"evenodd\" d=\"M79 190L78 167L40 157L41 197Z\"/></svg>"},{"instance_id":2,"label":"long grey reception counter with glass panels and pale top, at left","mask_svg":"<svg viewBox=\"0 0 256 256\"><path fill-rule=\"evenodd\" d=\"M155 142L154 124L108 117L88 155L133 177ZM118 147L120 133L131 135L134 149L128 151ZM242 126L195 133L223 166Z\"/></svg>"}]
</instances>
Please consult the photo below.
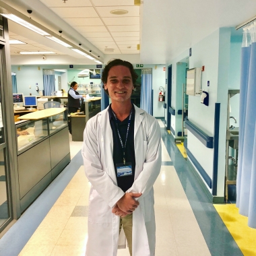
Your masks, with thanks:
<instances>
[{"instance_id":1,"label":"long grey reception counter with glass panels and pale top, at left","mask_svg":"<svg viewBox=\"0 0 256 256\"><path fill-rule=\"evenodd\" d=\"M26 208L70 162L66 108L19 117L17 133L20 208Z\"/></svg>"}]
</instances>

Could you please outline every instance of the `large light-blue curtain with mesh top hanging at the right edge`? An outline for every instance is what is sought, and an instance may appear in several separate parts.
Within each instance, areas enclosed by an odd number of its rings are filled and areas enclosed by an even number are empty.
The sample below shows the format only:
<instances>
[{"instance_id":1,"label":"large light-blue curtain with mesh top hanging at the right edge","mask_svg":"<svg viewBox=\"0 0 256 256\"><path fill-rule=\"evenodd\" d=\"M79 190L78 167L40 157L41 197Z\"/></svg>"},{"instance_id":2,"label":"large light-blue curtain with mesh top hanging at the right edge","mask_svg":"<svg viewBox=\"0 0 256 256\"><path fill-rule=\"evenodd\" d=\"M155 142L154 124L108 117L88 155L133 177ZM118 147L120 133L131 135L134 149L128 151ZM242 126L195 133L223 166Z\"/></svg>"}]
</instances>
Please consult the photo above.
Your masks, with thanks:
<instances>
[{"instance_id":1,"label":"large light-blue curtain with mesh top hanging at the right edge","mask_svg":"<svg viewBox=\"0 0 256 256\"><path fill-rule=\"evenodd\" d=\"M241 59L236 206L256 228L256 26L245 28Z\"/></svg>"}]
</instances>

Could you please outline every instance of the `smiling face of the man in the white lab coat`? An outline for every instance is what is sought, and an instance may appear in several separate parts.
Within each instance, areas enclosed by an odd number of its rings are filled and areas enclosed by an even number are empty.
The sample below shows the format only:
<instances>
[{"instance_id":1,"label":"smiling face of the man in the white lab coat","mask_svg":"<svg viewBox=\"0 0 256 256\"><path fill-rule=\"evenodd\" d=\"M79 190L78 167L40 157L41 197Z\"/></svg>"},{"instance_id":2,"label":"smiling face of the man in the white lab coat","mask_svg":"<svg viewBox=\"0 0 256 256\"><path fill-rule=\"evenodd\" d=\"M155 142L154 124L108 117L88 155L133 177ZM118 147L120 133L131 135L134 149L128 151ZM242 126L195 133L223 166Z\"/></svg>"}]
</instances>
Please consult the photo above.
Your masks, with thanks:
<instances>
[{"instance_id":1,"label":"smiling face of the man in the white lab coat","mask_svg":"<svg viewBox=\"0 0 256 256\"><path fill-rule=\"evenodd\" d=\"M129 68L121 65L111 67L104 89L108 90L112 102L130 102L133 80Z\"/></svg>"}]
</instances>

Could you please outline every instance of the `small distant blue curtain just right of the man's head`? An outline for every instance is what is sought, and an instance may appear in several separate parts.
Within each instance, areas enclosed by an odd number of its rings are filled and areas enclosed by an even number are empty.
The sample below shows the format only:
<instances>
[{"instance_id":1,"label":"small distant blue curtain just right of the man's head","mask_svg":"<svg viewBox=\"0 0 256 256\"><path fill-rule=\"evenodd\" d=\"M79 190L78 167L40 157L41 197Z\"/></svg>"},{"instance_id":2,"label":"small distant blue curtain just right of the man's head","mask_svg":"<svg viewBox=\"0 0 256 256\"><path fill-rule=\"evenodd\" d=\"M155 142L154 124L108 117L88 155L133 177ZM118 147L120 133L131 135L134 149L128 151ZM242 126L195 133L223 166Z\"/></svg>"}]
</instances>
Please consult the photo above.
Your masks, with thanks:
<instances>
[{"instance_id":1,"label":"small distant blue curtain just right of the man's head","mask_svg":"<svg viewBox=\"0 0 256 256\"><path fill-rule=\"evenodd\" d=\"M153 115L152 69L141 70L140 108Z\"/></svg>"}]
</instances>

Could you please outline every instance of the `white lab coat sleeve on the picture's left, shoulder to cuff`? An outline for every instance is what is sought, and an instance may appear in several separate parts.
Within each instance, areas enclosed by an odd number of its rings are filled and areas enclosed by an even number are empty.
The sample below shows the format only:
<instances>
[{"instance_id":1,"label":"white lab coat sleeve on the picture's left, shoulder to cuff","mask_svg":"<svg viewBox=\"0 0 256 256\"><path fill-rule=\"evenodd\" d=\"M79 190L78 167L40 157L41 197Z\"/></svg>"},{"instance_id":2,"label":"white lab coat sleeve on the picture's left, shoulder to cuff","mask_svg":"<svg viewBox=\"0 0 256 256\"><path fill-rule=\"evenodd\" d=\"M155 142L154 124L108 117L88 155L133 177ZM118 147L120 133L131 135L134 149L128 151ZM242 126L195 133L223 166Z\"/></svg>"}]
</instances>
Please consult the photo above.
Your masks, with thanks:
<instances>
[{"instance_id":1,"label":"white lab coat sleeve on the picture's left, shoulder to cuff","mask_svg":"<svg viewBox=\"0 0 256 256\"><path fill-rule=\"evenodd\" d=\"M122 189L115 185L113 179L108 175L100 160L100 143L96 132L96 123L88 121L84 130L84 143L82 146L82 156L84 158L84 168L86 177L96 189L100 197L113 207L125 194Z\"/></svg>"}]
</instances>

